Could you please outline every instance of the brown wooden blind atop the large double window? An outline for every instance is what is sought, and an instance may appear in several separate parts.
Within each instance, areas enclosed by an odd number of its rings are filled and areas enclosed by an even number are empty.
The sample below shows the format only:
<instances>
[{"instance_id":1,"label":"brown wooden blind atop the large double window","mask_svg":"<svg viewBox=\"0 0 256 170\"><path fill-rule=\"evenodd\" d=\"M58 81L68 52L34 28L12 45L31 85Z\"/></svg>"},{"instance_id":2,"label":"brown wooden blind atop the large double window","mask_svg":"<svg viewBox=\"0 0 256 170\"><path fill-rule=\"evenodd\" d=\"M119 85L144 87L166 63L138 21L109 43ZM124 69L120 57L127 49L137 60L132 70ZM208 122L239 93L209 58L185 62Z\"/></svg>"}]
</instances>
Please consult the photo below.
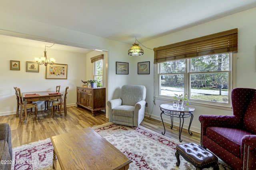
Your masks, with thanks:
<instances>
[{"instance_id":1,"label":"brown wooden blind atop the large double window","mask_svg":"<svg viewBox=\"0 0 256 170\"><path fill-rule=\"evenodd\" d=\"M204 55L237 52L238 29L231 29L203 37L154 48L154 63L186 59Z\"/></svg>"}]
</instances>

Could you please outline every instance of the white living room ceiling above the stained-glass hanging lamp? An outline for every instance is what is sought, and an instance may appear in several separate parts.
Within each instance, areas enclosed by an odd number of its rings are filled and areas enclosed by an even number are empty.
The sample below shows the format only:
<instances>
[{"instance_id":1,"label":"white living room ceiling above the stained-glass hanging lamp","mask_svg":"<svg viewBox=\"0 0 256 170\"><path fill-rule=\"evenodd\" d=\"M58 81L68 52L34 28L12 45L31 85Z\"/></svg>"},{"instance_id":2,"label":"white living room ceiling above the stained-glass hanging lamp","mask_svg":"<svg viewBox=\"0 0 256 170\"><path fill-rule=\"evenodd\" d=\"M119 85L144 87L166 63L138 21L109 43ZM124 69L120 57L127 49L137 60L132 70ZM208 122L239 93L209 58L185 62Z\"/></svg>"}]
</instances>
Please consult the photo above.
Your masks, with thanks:
<instances>
[{"instance_id":1,"label":"white living room ceiling above the stained-glass hanging lamp","mask_svg":"<svg viewBox=\"0 0 256 170\"><path fill-rule=\"evenodd\" d=\"M132 44L254 7L256 0L1 0L0 14Z\"/></svg>"}]
</instances>

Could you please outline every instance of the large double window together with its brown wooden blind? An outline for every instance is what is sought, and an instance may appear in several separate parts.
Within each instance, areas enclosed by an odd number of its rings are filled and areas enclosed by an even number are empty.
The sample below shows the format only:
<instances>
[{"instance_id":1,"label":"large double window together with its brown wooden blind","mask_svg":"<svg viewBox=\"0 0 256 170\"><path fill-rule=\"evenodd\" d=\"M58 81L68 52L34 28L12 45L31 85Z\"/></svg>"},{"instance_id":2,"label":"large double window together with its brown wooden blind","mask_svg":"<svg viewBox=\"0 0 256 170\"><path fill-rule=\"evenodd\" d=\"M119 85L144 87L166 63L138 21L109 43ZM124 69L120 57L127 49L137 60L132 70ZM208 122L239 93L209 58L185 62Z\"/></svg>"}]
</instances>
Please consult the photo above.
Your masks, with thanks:
<instances>
[{"instance_id":1,"label":"large double window together with its brown wooden blind","mask_svg":"<svg viewBox=\"0 0 256 170\"><path fill-rule=\"evenodd\" d=\"M188 93L190 102L230 106L238 29L154 48L158 96Z\"/></svg>"}]
</instances>

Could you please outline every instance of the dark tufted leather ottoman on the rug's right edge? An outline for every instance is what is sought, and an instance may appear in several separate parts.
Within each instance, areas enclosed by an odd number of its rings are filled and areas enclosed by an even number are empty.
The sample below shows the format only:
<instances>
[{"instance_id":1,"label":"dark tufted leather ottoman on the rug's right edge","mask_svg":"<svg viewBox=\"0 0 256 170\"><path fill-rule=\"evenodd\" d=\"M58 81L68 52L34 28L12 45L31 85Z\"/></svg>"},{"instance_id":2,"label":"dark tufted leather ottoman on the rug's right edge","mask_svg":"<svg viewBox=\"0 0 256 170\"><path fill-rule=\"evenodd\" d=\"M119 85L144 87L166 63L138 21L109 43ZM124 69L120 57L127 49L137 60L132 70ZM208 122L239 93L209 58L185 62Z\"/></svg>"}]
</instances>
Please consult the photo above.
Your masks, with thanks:
<instances>
[{"instance_id":1,"label":"dark tufted leather ottoman on the rug's right edge","mask_svg":"<svg viewBox=\"0 0 256 170\"><path fill-rule=\"evenodd\" d=\"M212 152L200 147L196 143L184 143L176 146L176 165L180 166L180 155L196 167L196 170L213 167L218 170L218 158Z\"/></svg>"}]
</instances>

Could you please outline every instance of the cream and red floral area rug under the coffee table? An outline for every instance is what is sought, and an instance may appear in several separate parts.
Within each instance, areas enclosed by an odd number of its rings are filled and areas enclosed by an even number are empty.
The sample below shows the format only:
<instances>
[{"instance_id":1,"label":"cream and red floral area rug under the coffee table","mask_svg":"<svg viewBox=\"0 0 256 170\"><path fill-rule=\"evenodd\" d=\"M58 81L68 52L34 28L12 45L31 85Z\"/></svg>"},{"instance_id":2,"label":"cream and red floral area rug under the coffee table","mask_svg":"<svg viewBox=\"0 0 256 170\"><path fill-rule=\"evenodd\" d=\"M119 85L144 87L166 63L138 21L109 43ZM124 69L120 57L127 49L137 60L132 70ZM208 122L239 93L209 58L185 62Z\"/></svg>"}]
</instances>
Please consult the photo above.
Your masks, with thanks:
<instances>
[{"instance_id":1,"label":"cream and red floral area rug under the coffee table","mask_svg":"<svg viewBox=\"0 0 256 170\"><path fill-rule=\"evenodd\" d=\"M127 127L106 123L92 129L133 161L129 170L195 170L182 156L180 166L176 166L174 153L179 142L142 126ZM50 138L16 147L13 149L12 170L50 170L52 157L53 147ZM220 170L231 170L221 160L218 163Z\"/></svg>"}]
</instances>

